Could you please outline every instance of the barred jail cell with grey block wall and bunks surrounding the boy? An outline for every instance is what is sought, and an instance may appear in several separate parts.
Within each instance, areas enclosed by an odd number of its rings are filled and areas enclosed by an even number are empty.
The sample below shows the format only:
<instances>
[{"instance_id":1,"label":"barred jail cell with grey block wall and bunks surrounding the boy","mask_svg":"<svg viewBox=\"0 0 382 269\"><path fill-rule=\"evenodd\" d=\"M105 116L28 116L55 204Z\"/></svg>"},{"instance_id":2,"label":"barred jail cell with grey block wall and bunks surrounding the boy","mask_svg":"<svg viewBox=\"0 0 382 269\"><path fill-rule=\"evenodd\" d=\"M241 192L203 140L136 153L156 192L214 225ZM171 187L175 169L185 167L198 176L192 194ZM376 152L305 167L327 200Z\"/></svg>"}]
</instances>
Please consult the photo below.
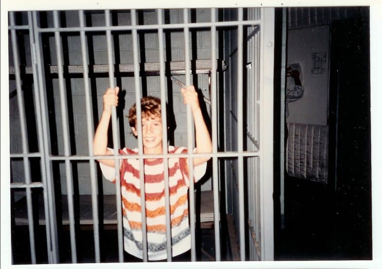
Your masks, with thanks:
<instances>
[{"instance_id":1,"label":"barred jail cell with grey block wall and bunks surrounding the boy","mask_svg":"<svg viewBox=\"0 0 382 269\"><path fill-rule=\"evenodd\" d=\"M109 134L115 150L137 143L127 109L155 95L168 103L165 125L176 123L168 137L164 130L164 145L187 145L188 154L180 156L191 160L198 154L192 153L195 134L190 108L181 104L182 83L200 89L213 141L203 184L190 181L191 260L197 260L205 227L214 231L213 260L273 259L272 123L266 120L273 113L273 9L10 12L8 28L12 232L27 225L30 263L89 261L79 255L85 245L92 261L105 261L100 242L107 229L117 231L118 261L124 261L119 168L113 186L96 165L102 157L92 153L102 94L122 89ZM138 130L134 158L143 164ZM103 158L129 157L115 151ZM157 157L167 167L167 152ZM140 177L143 184L143 172ZM169 223L168 179L164 190ZM85 229L93 242L79 240ZM147 261L144 222L143 229ZM166 234L169 242L169 225ZM15 240L14 257L21 246Z\"/></svg>"}]
</instances>

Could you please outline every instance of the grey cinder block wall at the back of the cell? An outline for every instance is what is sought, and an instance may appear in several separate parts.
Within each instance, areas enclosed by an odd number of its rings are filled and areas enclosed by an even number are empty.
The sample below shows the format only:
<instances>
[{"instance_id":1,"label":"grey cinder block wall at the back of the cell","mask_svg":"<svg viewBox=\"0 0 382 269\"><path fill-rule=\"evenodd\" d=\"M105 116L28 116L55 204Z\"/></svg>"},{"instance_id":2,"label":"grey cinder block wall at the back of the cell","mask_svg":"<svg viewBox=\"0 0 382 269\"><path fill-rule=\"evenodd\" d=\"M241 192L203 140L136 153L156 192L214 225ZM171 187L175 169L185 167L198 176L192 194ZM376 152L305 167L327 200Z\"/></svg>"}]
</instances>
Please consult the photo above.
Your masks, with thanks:
<instances>
[{"instance_id":1,"label":"grey cinder block wall at the back of the cell","mask_svg":"<svg viewBox=\"0 0 382 269\"><path fill-rule=\"evenodd\" d=\"M105 25L105 15L103 12L88 14L90 18L87 21L87 26L101 26ZM112 13L114 16L113 24L118 25L129 25L130 24L130 13L127 11L118 11L116 14ZM143 16L139 19L143 20L144 24L156 24L157 14L154 10L149 10L143 12ZM182 23L183 22L183 10L182 9L172 9L169 11L169 16L167 19L170 23ZM115 21L116 20L116 21ZM210 10L209 9L197 9L196 10L196 21L209 21L210 20ZM61 14L61 23L66 23L67 27L78 26L78 12L77 11L66 11ZM48 26L53 26L53 14L52 12L47 13ZM65 25L63 25L65 26ZM209 29L198 29L190 34L190 57L192 59L209 59L211 58L211 39ZM117 58L118 63L133 63L133 51L132 51L132 36L131 32L123 32L118 35L112 33L113 36L113 61ZM139 38L141 38L138 43L141 44L139 48L139 61L140 62L159 62L159 45L158 45L158 35L156 31L149 31L146 33L138 33ZM166 43L165 51L170 51L171 56L164 55L165 60L184 60L184 35L181 30L171 30L170 31L170 44ZM64 49L64 61L65 64L82 64L82 54L81 54L81 43L79 33L65 33L61 34L63 40ZM28 38L26 38L28 39ZM144 42L143 42L144 41ZM26 42L29 42L26 41ZM105 32L94 32L91 34L91 38L87 39L88 48L90 51L90 63L94 64L107 64L107 41ZM114 46L114 42L118 42L118 46ZM92 43L92 47L91 47ZM218 42L217 42L218 44ZM29 44L26 44L29 46ZM166 49L170 46L170 49ZM119 47L118 51L114 51L115 47ZM49 36L49 46L50 49L50 64L56 65L57 57L55 52L55 38L52 34ZM194 50L194 52L193 52ZM27 53L30 54L30 49L26 49ZM218 50L217 50L218 52ZM30 56L29 56L30 57ZM119 58L119 60L118 60ZM13 59L10 58L10 65L13 65ZM176 76L181 81L185 82L184 76ZM89 154L88 149L88 137L87 137L87 119L86 119L86 106L85 106L85 91L84 91L84 81L83 78L70 78L64 79L64 88L66 94L69 96L69 108L72 110L69 113L70 126L73 130L73 146L72 154L87 155ZM208 76L198 75L197 76L197 86L206 98L210 98L208 91ZM194 81L195 83L196 81ZM147 95L160 96L159 89L159 76L146 77L144 80L140 78L141 86L146 85ZM93 111L96 120L102 113L102 96L109 87L108 77L96 77L91 81L91 88L93 94L97 95L97 103L93 103ZM130 127L128 126L127 118L125 115L128 113L128 109L135 102L135 86L134 77L121 77L120 80L116 79L116 85L126 93L124 100L120 100L120 103L125 103L123 108L123 129L125 137L125 144L129 148L137 147L137 141L133 135L131 135ZM166 85L166 89L167 89ZM10 92L16 89L14 80L10 82ZM55 130L56 130L56 140L58 154L64 153L63 145L63 132L62 132L62 116L61 116L61 105L59 96L59 85L58 78L52 80L52 86L47 85L47 91L53 91L54 96L54 110L55 110ZM180 93L180 86L178 84L172 83L172 100L173 100L173 112L176 120L176 129L174 133L174 145L175 146L187 146L187 126L186 126L186 107L182 103L182 96ZM207 112L210 113L210 107L206 104ZM122 116L122 115L121 115ZM11 122L11 153L21 152L21 139L20 139L20 128L19 128L19 115L17 109L17 97L10 98L10 122ZM94 125L94 129L96 125ZM52 134L51 134L52 135ZM72 143L72 144L73 144ZM121 144L121 146L123 146ZM74 150L75 149L75 150ZM14 181L23 181L23 168L22 161L12 161L11 170L12 177ZM89 162L76 162L73 163L73 181L74 184L78 184L80 194L90 194L91 193L91 183L90 183L90 165ZM67 193L66 184L66 173L65 165L63 162L60 163L59 169L60 185L63 194ZM202 185L202 190L211 189L211 180L206 180ZM115 185L109 183L107 180L102 180L102 190L103 194L113 194L115 193Z\"/></svg>"}]
</instances>

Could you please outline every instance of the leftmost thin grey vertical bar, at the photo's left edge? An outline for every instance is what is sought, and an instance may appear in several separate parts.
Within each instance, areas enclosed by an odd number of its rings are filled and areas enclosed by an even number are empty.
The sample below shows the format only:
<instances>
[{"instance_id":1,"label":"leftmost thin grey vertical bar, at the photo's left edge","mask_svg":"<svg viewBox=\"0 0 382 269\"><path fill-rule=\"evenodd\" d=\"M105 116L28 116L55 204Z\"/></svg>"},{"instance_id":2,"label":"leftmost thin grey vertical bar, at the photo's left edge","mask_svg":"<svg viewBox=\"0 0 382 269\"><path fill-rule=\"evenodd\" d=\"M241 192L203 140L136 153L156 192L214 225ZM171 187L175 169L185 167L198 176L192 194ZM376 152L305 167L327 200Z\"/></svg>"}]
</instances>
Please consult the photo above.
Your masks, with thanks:
<instances>
[{"instance_id":1,"label":"leftmost thin grey vertical bar, at the photo's left edge","mask_svg":"<svg viewBox=\"0 0 382 269\"><path fill-rule=\"evenodd\" d=\"M10 12L10 22L11 26L15 25L15 13ZM22 153L28 153L28 138L27 138L27 127L25 120L25 109L24 109L24 98L22 96L21 90L21 78L20 78L20 62L18 58L18 44L16 38L16 30L11 30L12 38L12 53L13 61L15 65L15 77L16 77L16 92L17 92L17 101L18 101L18 113L20 116L20 127L21 127L21 142L22 142ZM31 170L29 167L28 157L23 157L24 164L24 175L25 183L31 183ZM32 264L36 264L36 250L35 250L35 231L33 229L33 209L32 209L32 191L31 188L26 188L27 196L27 212L28 212L28 228L29 228L29 244L31 248L31 259Z\"/></svg>"}]
</instances>

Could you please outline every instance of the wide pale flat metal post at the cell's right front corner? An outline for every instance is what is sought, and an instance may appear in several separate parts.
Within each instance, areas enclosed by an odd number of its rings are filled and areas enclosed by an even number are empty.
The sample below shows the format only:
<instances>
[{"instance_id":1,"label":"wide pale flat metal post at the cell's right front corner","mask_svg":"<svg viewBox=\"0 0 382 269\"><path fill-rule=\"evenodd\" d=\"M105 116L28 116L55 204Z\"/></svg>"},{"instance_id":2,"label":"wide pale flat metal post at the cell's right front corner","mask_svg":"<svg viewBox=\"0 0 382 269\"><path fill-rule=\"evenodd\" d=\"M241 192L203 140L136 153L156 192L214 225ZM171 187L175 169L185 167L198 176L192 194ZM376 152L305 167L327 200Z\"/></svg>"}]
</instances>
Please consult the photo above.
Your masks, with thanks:
<instances>
[{"instance_id":1,"label":"wide pale flat metal post at the cell's right front corner","mask_svg":"<svg viewBox=\"0 0 382 269\"><path fill-rule=\"evenodd\" d=\"M273 58L274 58L274 8L261 8L261 116L260 139L260 250L261 260L274 258L273 243ZM266 149L266 150L264 150Z\"/></svg>"}]
</instances>

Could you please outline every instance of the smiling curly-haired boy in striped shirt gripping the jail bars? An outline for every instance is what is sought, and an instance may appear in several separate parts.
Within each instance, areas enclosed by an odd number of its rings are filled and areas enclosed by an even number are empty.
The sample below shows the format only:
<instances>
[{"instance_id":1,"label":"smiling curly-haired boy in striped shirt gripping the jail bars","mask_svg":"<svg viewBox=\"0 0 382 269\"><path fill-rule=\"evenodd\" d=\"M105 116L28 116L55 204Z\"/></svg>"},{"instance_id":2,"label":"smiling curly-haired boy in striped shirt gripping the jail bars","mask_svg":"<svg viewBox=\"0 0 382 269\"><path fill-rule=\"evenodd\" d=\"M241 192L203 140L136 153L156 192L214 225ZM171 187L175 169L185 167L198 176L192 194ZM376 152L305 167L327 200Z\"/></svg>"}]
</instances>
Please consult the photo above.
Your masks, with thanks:
<instances>
[{"instance_id":1,"label":"smiling curly-haired boy in striped shirt gripping the jail bars","mask_svg":"<svg viewBox=\"0 0 382 269\"><path fill-rule=\"evenodd\" d=\"M112 106L118 105L119 88L107 89L103 96L104 109L98 127L94 134L93 148L95 155L112 155L108 148L108 128ZM195 123L196 148L195 153L211 153L210 134L204 122L198 93L194 86L181 89L183 103L189 104ZM163 154L161 100L153 96L141 99L142 138L144 154ZM137 136L137 115L134 104L128 114L132 133ZM124 155L138 154L138 149L120 149ZM168 146L169 154L187 153L184 147ZM205 173L206 162L210 157L194 157L194 182ZM98 160L104 176L115 182L113 159ZM189 187L187 158L168 158L168 176L170 193L172 256L188 256L191 248L191 234L188 221ZM163 159L145 158L145 201L147 251L149 260L164 260L167 258L166 221L164 197L164 163ZM124 249L134 257L143 258L142 253L142 215L139 159L122 159L120 161L122 211L124 227Z\"/></svg>"}]
</instances>

